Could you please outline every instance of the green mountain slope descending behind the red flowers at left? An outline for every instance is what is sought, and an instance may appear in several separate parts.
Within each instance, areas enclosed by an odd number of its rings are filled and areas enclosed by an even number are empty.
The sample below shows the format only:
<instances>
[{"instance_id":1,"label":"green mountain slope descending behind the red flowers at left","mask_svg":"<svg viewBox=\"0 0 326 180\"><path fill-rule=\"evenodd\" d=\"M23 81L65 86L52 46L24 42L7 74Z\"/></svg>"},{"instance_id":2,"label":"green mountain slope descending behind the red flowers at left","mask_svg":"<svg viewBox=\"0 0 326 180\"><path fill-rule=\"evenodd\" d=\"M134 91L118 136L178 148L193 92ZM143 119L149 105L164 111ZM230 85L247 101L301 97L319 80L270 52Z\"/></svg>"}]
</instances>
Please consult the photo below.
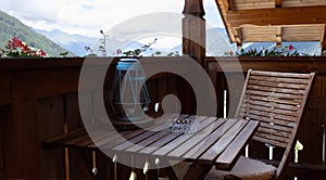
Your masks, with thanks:
<instances>
[{"instance_id":1,"label":"green mountain slope descending behind the red flowers at left","mask_svg":"<svg viewBox=\"0 0 326 180\"><path fill-rule=\"evenodd\" d=\"M12 37L23 40L30 47L45 50L48 56L59 56L60 53L67 51L47 37L35 33L17 18L0 11L0 48L3 49ZM70 53L70 55L74 54Z\"/></svg>"}]
</instances>

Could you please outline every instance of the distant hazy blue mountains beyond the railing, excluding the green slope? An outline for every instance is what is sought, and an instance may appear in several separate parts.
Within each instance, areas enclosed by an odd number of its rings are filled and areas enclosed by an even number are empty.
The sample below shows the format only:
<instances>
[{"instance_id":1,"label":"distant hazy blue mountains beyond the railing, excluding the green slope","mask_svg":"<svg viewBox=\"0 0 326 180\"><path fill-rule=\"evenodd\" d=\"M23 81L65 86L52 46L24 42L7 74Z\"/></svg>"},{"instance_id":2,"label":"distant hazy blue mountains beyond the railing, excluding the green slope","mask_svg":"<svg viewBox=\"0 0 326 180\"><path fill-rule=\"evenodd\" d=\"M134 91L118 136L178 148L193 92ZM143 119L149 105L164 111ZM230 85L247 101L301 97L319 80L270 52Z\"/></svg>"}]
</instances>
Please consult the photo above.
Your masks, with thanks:
<instances>
[{"instance_id":1,"label":"distant hazy blue mountains beyond the railing, excluding the green slope","mask_svg":"<svg viewBox=\"0 0 326 180\"><path fill-rule=\"evenodd\" d=\"M97 52L98 55L101 55L100 52L98 52L98 47L100 44L100 39L97 38L90 38L82 35L70 35L60 30L51 30L51 31L45 31L45 30L36 30L54 42L61 44L65 49L74 52L75 54L79 56L84 56L89 54L85 50L85 46L90 47L93 52ZM158 39L160 41L160 39ZM283 47L292 44L298 52L308 53L310 55L319 55L321 49L319 49L319 42L283 42ZM121 49L123 52L129 51L129 50L136 50L141 49L141 47L145 46L141 42L138 41L121 41L114 38L106 38L106 55L114 56L116 55L116 50ZM242 49L244 51L249 51L250 49L258 49L262 50L268 49L269 51L273 50L275 47L275 42L246 42L242 44ZM146 52L142 52L141 54L143 56L151 56L154 52L160 51L161 55L166 55L171 52L178 51L179 54L181 54L181 44L175 46L173 48L163 48L163 49L155 49L151 48L148 49ZM224 56L225 52L238 52L238 48L236 43L230 43L227 33L224 28L211 28L206 31L206 54L209 56Z\"/></svg>"}]
</instances>

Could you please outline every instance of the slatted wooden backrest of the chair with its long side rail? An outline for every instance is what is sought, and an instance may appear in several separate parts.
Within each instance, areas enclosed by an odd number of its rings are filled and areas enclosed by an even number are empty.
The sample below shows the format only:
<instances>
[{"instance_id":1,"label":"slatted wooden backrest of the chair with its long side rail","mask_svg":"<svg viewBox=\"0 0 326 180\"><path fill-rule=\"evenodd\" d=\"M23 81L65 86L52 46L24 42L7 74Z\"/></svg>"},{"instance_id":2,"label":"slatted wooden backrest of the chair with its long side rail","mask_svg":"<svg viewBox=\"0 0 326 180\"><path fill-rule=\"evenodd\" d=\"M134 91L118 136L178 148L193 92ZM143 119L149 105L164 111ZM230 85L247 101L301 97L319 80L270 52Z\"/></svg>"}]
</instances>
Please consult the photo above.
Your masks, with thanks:
<instances>
[{"instance_id":1,"label":"slatted wooden backrest of the chair with its long side rail","mask_svg":"<svg viewBox=\"0 0 326 180\"><path fill-rule=\"evenodd\" d=\"M268 75L269 74L269 75ZM254 88L250 85L244 86L243 92L241 95L241 100L239 103L238 112L236 113L237 118L244 118L244 119L256 119L266 124L269 124L269 128L272 130L261 128L259 129L253 137L253 140L268 143L275 146L285 147L286 151L284 153L284 156L281 158L281 163L278 166L278 169L276 171L276 178L279 178L281 173L284 172L284 166L286 166L289 163L290 153L293 151L293 142L297 136L297 130L299 127L299 123L301 120L301 116L304 110L304 105L308 99L308 94L310 92L310 88L312 86L312 80L314 78L314 73L311 74L288 74L288 73L269 73L269 72L258 72L258 70L249 70L247 75L247 82L249 82L249 79L260 80L260 81L273 81L275 82L281 82L281 83L299 83L299 85L305 85L304 93L302 91L292 91L290 94L287 93L286 89L288 91L292 90L291 87L284 87L281 91L278 90L278 88L274 88L269 86L266 88L264 83L262 82L260 86L254 86ZM254 90L250 90L254 89ZM261 90L262 89L262 90ZM278 91L278 92L276 92ZM301 92L301 93L300 93ZM281 100L290 100L290 102L297 102L297 106L300 107L299 110L294 112L284 111L284 110L277 110L274 108L274 101L266 101L265 103L268 103L271 108L263 107L260 105L252 105L250 104L251 99L249 95L255 95L255 97L262 97L265 98L265 100L268 99L281 99ZM246 99L246 101L244 101ZM284 102L285 103L285 102ZM285 103L286 105L292 105L293 103ZM266 105L265 105L266 106ZM278 133L278 130L285 129L287 127L287 131L284 133ZM266 126L265 126L266 127ZM278 130L273 130L274 127L277 127ZM289 134L287 132L290 132ZM281 136L286 134L286 136Z\"/></svg>"}]
</instances>

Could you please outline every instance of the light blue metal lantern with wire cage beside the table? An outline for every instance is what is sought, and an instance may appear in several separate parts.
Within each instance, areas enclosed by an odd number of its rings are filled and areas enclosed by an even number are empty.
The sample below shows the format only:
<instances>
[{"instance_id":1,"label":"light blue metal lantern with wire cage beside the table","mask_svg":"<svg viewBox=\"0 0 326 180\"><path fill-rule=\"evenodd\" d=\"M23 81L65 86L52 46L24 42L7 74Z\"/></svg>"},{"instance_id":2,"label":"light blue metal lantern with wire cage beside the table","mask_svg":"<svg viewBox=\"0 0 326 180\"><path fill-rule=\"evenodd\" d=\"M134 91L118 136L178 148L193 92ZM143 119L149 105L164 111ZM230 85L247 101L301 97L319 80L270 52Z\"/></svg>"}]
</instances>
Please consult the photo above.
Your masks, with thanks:
<instances>
[{"instance_id":1,"label":"light blue metal lantern with wire cage beside the table","mask_svg":"<svg viewBox=\"0 0 326 180\"><path fill-rule=\"evenodd\" d=\"M124 59L117 63L110 94L113 115L117 120L143 119L150 103L145 81L143 68L136 59Z\"/></svg>"}]
</instances>

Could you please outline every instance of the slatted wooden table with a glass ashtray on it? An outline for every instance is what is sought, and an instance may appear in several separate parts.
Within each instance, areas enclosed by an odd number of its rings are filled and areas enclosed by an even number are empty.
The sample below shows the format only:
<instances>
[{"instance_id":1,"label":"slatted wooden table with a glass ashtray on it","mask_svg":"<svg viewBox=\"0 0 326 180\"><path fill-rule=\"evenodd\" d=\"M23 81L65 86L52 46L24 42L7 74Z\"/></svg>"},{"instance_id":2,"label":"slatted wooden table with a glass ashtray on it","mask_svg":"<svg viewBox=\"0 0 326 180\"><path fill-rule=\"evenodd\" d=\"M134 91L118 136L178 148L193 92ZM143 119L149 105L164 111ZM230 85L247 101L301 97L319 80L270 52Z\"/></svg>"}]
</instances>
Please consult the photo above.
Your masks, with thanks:
<instances>
[{"instance_id":1,"label":"slatted wooden table with a glass ashtray on it","mask_svg":"<svg viewBox=\"0 0 326 180\"><path fill-rule=\"evenodd\" d=\"M166 121L173 119L195 119L197 130L190 133L174 133ZM191 162L192 166L185 179L200 179L215 166L230 169L242 147L248 143L259 126L258 121L205 116L165 115L145 129L108 132L95 130L92 140L85 130L46 141L46 144L64 146L100 147L117 154L133 154L147 159L164 158ZM95 141L95 142L92 142Z\"/></svg>"}]
</instances>

